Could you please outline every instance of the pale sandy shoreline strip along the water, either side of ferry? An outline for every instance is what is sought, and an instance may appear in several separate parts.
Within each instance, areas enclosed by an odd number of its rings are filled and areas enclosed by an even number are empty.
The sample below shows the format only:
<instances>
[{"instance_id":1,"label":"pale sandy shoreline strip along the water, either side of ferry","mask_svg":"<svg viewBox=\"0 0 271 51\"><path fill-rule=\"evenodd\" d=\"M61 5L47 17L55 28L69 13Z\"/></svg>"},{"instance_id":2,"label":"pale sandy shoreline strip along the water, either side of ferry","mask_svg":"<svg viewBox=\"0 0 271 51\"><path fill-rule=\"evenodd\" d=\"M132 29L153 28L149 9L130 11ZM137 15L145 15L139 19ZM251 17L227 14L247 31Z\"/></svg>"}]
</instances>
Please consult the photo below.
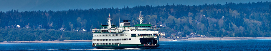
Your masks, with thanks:
<instances>
[{"instance_id":1,"label":"pale sandy shoreline strip along the water, either side of ferry","mask_svg":"<svg viewBox=\"0 0 271 51\"><path fill-rule=\"evenodd\" d=\"M170 41L173 38L159 38L159 41ZM176 38L178 41L194 40L249 40L249 39L271 39L271 37L206 37L206 38ZM4 41L3 43L68 43L68 42L92 42L92 40L64 40L64 41Z\"/></svg>"}]
</instances>

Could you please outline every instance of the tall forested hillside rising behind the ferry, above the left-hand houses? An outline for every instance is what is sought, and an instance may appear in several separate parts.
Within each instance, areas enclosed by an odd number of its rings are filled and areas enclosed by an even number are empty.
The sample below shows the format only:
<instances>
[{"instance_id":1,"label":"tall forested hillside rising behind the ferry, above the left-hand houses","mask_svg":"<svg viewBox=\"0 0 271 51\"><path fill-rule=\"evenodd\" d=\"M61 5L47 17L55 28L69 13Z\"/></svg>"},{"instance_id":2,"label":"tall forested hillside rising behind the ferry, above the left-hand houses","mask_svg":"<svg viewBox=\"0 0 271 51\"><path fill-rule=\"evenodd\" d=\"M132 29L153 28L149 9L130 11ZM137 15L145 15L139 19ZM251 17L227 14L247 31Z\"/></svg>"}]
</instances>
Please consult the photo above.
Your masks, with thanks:
<instances>
[{"instance_id":1,"label":"tall forested hillside rising behind the ferry, above the left-hand houses","mask_svg":"<svg viewBox=\"0 0 271 51\"><path fill-rule=\"evenodd\" d=\"M143 23L154 25L166 24L160 32L169 36L175 32L183 32L177 36L189 35L192 32L207 35L207 37L263 37L271 36L271 2L256 3L226 3L203 4L197 6L167 4L163 6L124 6L123 8L102 9L70 9L60 11L0 11L0 27L10 29L9 26L26 25L35 30L38 25L49 29L51 25L58 30L90 31L107 25L106 18L110 13L111 23L119 25L119 18L131 20L131 25L139 22L138 15L142 11L145 17ZM199 20L200 23L195 23ZM25 31L25 30L22 30ZM44 30L47 31L47 30ZM24 33L22 33L24 34ZM60 34L61 35L61 34ZM0 38L6 38L6 33L0 32ZM10 36L12 37L12 36ZM59 38L59 36L55 36ZM57 40L57 39L55 39Z\"/></svg>"}]
</instances>

